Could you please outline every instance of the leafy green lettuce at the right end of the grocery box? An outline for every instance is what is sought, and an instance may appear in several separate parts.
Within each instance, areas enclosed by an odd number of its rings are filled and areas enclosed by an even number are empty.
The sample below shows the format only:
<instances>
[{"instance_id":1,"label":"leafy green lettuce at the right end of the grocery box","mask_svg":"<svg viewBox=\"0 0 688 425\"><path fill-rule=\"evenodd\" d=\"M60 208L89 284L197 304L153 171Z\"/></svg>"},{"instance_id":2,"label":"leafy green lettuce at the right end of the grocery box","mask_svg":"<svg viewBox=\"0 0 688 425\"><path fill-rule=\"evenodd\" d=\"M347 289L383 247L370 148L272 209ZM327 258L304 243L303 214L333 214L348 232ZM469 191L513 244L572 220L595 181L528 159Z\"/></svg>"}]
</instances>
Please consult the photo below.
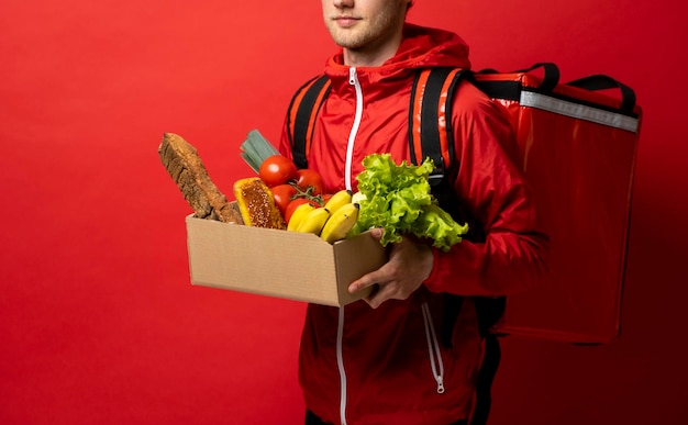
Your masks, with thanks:
<instances>
[{"instance_id":1,"label":"leafy green lettuce at the right end of the grocery box","mask_svg":"<svg viewBox=\"0 0 688 425\"><path fill-rule=\"evenodd\" d=\"M432 239L433 246L443 250L462 241L468 226L456 223L431 194L428 178L434 169L432 159L419 166L407 161L397 165L389 154L371 154L363 166L356 177L362 195L352 234L381 227L384 246L412 234Z\"/></svg>"}]
</instances>

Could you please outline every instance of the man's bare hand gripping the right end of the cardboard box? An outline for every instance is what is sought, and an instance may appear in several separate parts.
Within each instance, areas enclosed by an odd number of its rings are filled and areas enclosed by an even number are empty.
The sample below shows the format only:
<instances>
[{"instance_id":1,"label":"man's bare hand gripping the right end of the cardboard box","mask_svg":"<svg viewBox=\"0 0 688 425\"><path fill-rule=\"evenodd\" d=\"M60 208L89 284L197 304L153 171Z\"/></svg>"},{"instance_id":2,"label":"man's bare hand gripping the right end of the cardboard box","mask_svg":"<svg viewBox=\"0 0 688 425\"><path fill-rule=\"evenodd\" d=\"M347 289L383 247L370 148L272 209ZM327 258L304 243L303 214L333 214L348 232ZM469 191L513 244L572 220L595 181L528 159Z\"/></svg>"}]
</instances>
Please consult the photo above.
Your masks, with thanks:
<instances>
[{"instance_id":1,"label":"man's bare hand gripping the right end of the cardboard box","mask_svg":"<svg viewBox=\"0 0 688 425\"><path fill-rule=\"evenodd\" d=\"M370 234L379 239L382 237L382 230L374 228ZM428 279L432 267L431 248L404 236L400 243L392 245L389 261L352 282L348 291L353 293L377 284L377 290L364 299L373 309L377 309L387 300L409 298Z\"/></svg>"}]
</instances>

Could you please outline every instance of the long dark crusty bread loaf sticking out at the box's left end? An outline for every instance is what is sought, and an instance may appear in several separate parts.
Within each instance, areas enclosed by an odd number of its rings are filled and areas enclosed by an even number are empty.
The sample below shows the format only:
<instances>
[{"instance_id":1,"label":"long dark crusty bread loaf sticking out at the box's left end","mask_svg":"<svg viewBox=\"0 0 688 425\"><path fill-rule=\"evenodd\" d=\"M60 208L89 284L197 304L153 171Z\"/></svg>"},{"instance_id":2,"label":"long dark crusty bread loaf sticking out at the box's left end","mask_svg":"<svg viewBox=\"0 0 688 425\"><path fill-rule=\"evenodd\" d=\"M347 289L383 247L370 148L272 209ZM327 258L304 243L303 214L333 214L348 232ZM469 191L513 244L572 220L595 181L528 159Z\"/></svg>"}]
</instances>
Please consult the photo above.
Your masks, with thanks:
<instances>
[{"instance_id":1,"label":"long dark crusty bread loaf sticking out at the box's left end","mask_svg":"<svg viewBox=\"0 0 688 425\"><path fill-rule=\"evenodd\" d=\"M228 202L226 197L210 179L193 146L176 134L165 133L158 154L196 216L225 223L243 223L236 205Z\"/></svg>"}]
</instances>

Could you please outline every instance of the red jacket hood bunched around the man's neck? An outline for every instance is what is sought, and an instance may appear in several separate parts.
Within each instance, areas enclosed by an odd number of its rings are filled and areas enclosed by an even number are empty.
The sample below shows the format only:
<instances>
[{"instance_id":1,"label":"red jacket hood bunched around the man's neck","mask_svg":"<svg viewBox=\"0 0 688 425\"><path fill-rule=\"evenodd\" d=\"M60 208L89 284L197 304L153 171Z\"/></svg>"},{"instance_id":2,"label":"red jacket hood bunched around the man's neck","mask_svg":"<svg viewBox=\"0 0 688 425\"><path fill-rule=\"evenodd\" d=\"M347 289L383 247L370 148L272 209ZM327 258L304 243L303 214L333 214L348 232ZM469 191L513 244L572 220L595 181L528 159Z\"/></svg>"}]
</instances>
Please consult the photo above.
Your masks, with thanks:
<instances>
[{"instance_id":1,"label":"red jacket hood bunched around the man's neck","mask_svg":"<svg viewBox=\"0 0 688 425\"><path fill-rule=\"evenodd\" d=\"M380 77L429 67L470 68L468 45L455 33L406 23L403 40L397 54L379 67L357 67L363 72L378 72ZM348 78L343 51L328 59L325 74L331 78Z\"/></svg>"}]
</instances>

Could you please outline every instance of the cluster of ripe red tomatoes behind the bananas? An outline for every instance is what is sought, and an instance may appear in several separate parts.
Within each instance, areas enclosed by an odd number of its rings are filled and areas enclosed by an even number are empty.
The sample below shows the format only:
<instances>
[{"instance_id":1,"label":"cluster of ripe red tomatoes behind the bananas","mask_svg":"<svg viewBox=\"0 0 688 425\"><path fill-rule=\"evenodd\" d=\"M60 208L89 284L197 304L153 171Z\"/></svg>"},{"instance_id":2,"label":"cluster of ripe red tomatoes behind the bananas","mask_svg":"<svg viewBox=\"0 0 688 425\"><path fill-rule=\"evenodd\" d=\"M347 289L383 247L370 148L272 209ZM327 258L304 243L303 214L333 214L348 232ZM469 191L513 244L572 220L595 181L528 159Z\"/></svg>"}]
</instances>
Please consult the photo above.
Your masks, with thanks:
<instances>
[{"instance_id":1,"label":"cluster of ripe red tomatoes behind the bananas","mask_svg":"<svg viewBox=\"0 0 688 425\"><path fill-rule=\"evenodd\" d=\"M322 206L329 199L318 171L297 169L293 161L281 155L267 157L258 170L260 180L270 188L275 203L288 223L293 210L302 203Z\"/></svg>"}]
</instances>

